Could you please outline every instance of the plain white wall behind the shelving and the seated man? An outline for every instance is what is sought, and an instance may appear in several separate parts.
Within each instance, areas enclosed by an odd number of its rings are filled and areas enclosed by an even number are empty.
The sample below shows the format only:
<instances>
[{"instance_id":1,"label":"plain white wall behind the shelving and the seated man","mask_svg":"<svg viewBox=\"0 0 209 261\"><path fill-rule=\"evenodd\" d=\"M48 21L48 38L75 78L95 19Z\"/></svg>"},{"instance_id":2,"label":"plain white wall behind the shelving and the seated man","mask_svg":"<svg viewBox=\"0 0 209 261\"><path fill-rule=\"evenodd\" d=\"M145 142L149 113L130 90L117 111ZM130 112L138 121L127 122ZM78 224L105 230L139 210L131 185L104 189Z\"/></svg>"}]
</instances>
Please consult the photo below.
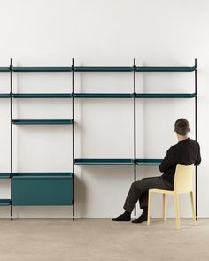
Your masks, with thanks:
<instances>
[{"instance_id":1,"label":"plain white wall behind the shelving and the seated man","mask_svg":"<svg viewBox=\"0 0 209 261\"><path fill-rule=\"evenodd\" d=\"M194 65L198 68L198 212L208 217L209 127L208 1L200 0L0 0L0 66L13 58L19 66ZM139 73L138 73L139 74ZM137 92L192 92L194 73L137 75ZM0 74L0 92L9 92L9 76ZM133 73L76 73L76 92L132 92ZM65 92L71 73L14 73L14 92ZM10 170L9 100L0 101L0 172ZM55 106L56 105L56 106ZM71 103L19 100L14 118L71 118ZM132 100L76 100L76 157L133 157ZM174 120L190 120L194 137L194 100L137 100L137 157L164 157L176 142ZM71 171L71 127L14 127L14 172ZM120 214L133 180L133 167L76 166L75 211L78 217ZM158 167L138 169L137 178L159 175ZM0 197L10 195L9 180L0 181ZM190 215L182 196L181 214ZM172 199L168 214L174 215ZM18 217L70 217L72 208L16 207ZM9 215L2 207L0 217ZM161 216L161 200L152 215Z\"/></svg>"}]
</instances>

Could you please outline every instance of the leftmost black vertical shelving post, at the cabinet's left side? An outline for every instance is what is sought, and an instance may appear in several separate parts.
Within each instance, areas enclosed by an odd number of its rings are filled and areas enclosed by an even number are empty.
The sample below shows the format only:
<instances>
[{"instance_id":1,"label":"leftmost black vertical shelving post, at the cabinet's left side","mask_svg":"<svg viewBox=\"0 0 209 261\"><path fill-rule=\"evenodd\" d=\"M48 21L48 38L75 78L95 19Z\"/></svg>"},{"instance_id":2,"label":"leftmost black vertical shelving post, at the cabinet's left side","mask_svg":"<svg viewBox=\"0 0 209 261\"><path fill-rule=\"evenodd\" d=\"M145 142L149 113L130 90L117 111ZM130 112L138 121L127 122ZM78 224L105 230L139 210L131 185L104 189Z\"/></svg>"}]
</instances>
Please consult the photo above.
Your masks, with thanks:
<instances>
[{"instance_id":1,"label":"leftmost black vertical shelving post, at the cabinet's left side","mask_svg":"<svg viewBox=\"0 0 209 261\"><path fill-rule=\"evenodd\" d=\"M11 129L11 165L10 165L10 179L11 179L11 213L10 213L10 217L12 220L12 203L13 203L13 199L12 199L12 176L13 176L13 138L12 138L12 58L10 59L10 104L11 104L11 109L10 109L10 129Z\"/></svg>"}]
</instances>

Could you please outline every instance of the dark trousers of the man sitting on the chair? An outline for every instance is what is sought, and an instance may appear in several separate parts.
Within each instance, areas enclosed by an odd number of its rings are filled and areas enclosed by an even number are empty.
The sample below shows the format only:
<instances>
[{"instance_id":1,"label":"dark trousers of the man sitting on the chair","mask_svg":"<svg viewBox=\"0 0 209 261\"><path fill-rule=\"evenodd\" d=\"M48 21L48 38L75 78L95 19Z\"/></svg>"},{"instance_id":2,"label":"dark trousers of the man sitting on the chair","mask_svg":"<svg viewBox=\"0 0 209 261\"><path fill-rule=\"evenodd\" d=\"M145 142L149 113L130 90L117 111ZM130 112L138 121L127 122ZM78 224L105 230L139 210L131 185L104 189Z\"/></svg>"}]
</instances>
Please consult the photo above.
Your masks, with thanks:
<instances>
[{"instance_id":1,"label":"dark trousers of the man sitting on the chair","mask_svg":"<svg viewBox=\"0 0 209 261\"><path fill-rule=\"evenodd\" d=\"M160 177L145 178L132 183L126 202L124 204L124 210L132 212L135 208L135 203L139 200L140 208L148 206L148 191L151 188L159 188L166 190L173 190L173 184L170 184L166 180Z\"/></svg>"}]
</instances>

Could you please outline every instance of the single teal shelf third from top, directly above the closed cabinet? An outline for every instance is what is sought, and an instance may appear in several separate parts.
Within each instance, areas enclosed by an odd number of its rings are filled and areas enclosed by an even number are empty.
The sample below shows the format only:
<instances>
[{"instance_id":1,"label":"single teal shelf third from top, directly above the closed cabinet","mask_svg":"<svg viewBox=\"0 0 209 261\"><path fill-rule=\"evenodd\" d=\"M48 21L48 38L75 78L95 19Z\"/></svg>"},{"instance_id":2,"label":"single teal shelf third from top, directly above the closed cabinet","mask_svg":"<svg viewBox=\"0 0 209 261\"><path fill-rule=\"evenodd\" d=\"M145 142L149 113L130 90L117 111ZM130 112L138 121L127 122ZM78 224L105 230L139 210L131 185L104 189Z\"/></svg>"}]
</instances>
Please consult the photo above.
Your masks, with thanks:
<instances>
[{"instance_id":1,"label":"single teal shelf third from top, directly above the closed cabinet","mask_svg":"<svg viewBox=\"0 0 209 261\"><path fill-rule=\"evenodd\" d=\"M73 119L13 119L16 125L66 125L73 124Z\"/></svg>"}]
</instances>

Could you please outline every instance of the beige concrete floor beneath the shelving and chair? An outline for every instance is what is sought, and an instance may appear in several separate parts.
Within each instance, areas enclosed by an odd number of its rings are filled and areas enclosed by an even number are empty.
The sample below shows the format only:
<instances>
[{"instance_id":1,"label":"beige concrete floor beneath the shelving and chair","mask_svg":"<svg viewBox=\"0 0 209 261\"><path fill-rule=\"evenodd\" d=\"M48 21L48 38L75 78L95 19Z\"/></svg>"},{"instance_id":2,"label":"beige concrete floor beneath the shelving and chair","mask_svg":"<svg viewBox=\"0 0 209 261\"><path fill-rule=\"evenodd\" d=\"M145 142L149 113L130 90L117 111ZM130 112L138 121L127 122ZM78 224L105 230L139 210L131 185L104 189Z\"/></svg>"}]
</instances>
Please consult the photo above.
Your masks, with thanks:
<instances>
[{"instance_id":1,"label":"beige concrete floor beneath the shelving and chair","mask_svg":"<svg viewBox=\"0 0 209 261\"><path fill-rule=\"evenodd\" d=\"M209 260L209 219L0 219L0 261Z\"/></svg>"}]
</instances>

